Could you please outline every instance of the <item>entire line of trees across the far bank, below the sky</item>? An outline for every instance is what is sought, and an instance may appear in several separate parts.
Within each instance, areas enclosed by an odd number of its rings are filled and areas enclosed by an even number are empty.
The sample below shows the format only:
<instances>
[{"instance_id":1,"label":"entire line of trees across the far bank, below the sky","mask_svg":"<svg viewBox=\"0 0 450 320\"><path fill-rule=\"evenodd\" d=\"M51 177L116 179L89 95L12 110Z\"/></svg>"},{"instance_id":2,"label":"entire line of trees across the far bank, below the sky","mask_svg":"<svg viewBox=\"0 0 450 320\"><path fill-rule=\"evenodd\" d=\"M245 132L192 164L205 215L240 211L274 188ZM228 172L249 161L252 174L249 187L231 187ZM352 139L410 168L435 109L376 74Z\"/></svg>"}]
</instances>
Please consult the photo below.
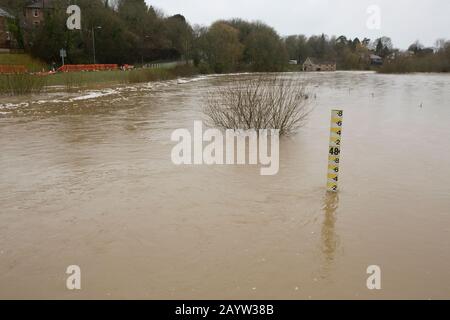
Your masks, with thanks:
<instances>
[{"instance_id":1,"label":"entire line of trees across the far bank, below the sky","mask_svg":"<svg viewBox=\"0 0 450 320\"><path fill-rule=\"evenodd\" d=\"M449 42L439 50L416 44L413 56L394 49L388 37L347 39L324 34L281 37L262 22L223 20L209 27L192 26L184 16L165 16L145 0L53 0L44 23L27 26L26 0L0 0L20 17L12 31L26 52L47 63L59 63L59 50L67 50L67 63L93 62L95 30L98 63L140 64L157 60L193 61L204 73L234 71L283 71L289 60L302 63L307 57L336 61L338 69L373 68L371 55L384 59L384 72L448 71ZM82 30L66 28L66 9L82 10ZM97 28L97 27L101 27ZM395 70L395 71L394 71Z\"/></svg>"}]
</instances>

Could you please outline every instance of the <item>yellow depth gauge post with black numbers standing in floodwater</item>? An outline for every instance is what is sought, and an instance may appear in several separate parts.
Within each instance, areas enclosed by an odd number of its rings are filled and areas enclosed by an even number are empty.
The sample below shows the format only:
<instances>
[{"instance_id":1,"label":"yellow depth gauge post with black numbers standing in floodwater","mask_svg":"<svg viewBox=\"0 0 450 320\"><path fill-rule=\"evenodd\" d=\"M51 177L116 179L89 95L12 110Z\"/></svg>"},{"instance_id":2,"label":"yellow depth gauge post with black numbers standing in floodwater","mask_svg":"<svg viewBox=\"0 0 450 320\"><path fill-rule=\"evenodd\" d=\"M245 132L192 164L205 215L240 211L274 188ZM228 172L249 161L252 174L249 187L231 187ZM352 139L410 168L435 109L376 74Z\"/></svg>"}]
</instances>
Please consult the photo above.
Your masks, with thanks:
<instances>
[{"instance_id":1,"label":"yellow depth gauge post with black numbers standing in floodwater","mask_svg":"<svg viewBox=\"0 0 450 320\"><path fill-rule=\"evenodd\" d=\"M328 156L328 191L337 192L339 186L339 164L341 161L343 110L331 111L330 148Z\"/></svg>"}]
</instances>

